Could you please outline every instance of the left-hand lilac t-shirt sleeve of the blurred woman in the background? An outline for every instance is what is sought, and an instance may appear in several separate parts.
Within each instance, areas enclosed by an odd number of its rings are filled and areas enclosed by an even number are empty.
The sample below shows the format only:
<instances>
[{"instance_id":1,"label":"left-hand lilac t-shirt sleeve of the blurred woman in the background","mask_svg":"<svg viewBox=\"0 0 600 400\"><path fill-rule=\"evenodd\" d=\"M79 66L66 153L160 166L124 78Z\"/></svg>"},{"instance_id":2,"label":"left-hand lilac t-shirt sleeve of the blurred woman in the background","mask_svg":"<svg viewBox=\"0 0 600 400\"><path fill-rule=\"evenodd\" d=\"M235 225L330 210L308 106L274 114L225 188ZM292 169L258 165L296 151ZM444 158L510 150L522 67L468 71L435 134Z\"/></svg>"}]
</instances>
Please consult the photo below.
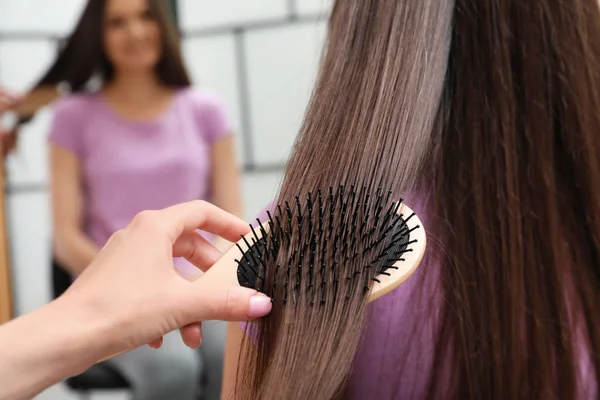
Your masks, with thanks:
<instances>
[{"instance_id":1,"label":"left-hand lilac t-shirt sleeve of the blurred woman in the background","mask_svg":"<svg viewBox=\"0 0 600 400\"><path fill-rule=\"evenodd\" d=\"M79 158L84 156L81 119L85 102L79 96L67 96L53 105L52 123L48 140Z\"/></svg>"}]
</instances>

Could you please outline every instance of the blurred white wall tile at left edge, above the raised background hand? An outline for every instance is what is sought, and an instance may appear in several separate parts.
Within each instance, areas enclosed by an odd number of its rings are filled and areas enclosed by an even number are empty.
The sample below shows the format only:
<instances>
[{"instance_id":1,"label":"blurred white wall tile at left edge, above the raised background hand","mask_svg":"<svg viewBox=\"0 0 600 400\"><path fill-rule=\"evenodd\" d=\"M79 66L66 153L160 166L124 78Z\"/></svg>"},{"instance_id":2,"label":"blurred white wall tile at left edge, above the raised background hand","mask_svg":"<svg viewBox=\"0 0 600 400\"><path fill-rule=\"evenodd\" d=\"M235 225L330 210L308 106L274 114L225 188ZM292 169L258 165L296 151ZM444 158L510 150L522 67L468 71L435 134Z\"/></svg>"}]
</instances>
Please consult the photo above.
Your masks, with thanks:
<instances>
[{"instance_id":1,"label":"blurred white wall tile at left edge, above the raised background hand","mask_svg":"<svg viewBox=\"0 0 600 400\"><path fill-rule=\"evenodd\" d=\"M16 91L29 89L50 67L56 51L51 40L1 40L0 85Z\"/></svg>"}]
</instances>

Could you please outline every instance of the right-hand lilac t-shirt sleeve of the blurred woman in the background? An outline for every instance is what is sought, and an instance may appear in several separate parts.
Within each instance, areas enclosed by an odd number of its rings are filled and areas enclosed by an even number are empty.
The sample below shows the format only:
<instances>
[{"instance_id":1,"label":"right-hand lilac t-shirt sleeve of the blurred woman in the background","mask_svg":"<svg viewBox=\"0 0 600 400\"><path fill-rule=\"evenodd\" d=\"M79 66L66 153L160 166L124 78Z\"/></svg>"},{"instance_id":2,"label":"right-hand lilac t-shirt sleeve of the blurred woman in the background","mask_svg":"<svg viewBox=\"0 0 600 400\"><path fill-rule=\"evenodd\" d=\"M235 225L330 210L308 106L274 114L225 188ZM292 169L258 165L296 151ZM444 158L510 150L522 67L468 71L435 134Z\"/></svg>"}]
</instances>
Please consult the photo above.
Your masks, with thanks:
<instances>
[{"instance_id":1,"label":"right-hand lilac t-shirt sleeve of the blurred woman in the background","mask_svg":"<svg viewBox=\"0 0 600 400\"><path fill-rule=\"evenodd\" d=\"M190 96L201 132L209 143L231 135L231 120L219 97L194 89L191 89Z\"/></svg>"}]
</instances>

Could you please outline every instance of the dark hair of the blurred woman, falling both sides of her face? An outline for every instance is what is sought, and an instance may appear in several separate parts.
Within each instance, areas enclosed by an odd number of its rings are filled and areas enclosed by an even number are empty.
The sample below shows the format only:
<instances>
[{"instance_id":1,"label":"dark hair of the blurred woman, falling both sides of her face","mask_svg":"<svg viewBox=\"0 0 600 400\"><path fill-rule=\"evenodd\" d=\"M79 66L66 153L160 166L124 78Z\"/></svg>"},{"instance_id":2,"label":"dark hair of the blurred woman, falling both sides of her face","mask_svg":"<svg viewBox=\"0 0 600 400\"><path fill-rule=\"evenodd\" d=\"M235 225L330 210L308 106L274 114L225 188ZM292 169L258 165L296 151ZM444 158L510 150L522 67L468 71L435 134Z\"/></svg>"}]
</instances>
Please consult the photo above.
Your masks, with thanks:
<instances>
[{"instance_id":1,"label":"dark hair of the blurred woman, falling both sides of her face","mask_svg":"<svg viewBox=\"0 0 600 400\"><path fill-rule=\"evenodd\" d=\"M162 40L162 55L156 65L156 74L167 86L189 86L190 78L181 56L177 31L170 20L165 1L147 1L158 23ZM105 8L106 0L88 0L75 30L36 86L67 83L71 92L79 92L94 76L104 82L112 79L114 67L106 56L102 40Z\"/></svg>"}]
</instances>

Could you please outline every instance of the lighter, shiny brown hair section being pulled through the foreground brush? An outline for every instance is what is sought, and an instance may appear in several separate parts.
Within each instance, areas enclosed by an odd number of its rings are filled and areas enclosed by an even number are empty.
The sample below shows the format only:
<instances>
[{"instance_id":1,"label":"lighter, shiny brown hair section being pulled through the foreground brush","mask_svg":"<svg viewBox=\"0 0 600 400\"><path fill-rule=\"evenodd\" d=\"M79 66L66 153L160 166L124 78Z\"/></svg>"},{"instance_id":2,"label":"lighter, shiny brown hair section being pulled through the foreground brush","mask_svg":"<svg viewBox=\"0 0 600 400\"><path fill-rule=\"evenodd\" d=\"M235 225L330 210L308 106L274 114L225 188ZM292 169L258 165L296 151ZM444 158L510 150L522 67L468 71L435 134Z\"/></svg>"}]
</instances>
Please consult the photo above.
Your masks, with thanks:
<instances>
[{"instance_id":1,"label":"lighter, shiny brown hair section being pulled through the foreground brush","mask_svg":"<svg viewBox=\"0 0 600 400\"><path fill-rule=\"evenodd\" d=\"M330 186L366 186L373 197L378 188L393 189L394 200L412 187L441 100L452 2L419 0L419 7L407 3L335 2L315 93L279 194L281 204L296 204L296 196L316 196L319 189L326 193ZM341 217L337 222L335 229L349 225ZM308 231L293 230L291 242L307 242ZM280 250L274 264L288 265L293 251L293 246ZM340 265L338 280L344 282L365 265L363 258ZM333 262L333 257L326 260ZM296 276L301 267L272 265L265 286L286 281L288 271ZM286 289L281 284L269 293L275 301L271 314L251 327L260 338L257 346L242 346L236 399L342 395L366 297L343 300L346 293L327 287L331 290L322 306L307 306L302 295L283 305Z\"/></svg>"}]
</instances>

